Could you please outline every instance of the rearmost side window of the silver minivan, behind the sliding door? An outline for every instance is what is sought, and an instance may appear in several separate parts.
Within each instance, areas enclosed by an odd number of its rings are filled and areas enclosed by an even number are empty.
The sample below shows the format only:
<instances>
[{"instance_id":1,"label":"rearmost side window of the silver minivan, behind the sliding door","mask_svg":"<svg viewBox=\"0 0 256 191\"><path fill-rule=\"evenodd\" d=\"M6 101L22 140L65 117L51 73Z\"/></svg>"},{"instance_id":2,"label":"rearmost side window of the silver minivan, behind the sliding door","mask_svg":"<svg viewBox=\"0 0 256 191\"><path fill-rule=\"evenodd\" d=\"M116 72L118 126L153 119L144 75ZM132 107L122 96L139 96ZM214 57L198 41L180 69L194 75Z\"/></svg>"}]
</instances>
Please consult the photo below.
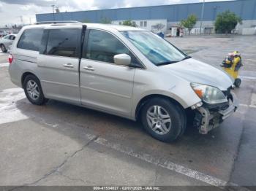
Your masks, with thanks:
<instances>
[{"instance_id":1,"label":"rearmost side window of the silver minivan, behind the sliding door","mask_svg":"<svg viewBox=\"0 0 256 191\"><path fill-rule=\"evenodd\" d=\"M42 28L27 29L21 35L17 47L25 50L39 51L42 32Z\"/></svg>"}]
</instances>

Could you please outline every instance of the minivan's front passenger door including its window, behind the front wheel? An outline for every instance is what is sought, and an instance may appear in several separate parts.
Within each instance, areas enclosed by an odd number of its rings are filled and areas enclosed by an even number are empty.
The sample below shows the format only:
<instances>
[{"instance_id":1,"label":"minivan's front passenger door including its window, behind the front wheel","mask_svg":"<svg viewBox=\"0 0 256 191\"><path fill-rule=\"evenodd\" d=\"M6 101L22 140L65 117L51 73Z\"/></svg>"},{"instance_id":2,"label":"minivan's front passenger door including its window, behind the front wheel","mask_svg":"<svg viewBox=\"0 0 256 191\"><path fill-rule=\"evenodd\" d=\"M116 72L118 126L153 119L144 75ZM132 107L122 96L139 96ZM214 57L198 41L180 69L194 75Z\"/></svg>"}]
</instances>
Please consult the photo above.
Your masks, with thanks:
<instances>
[{"instance_id":1,"label":"minivan's front passenger door including its window, behind the front wheel","mask_svg":"<svg viewBox=\"0 0 256 191\"><path fill-rule=\"evenodd\" d=\"M113 56L131 55L131 52L113 34L99 30L87 33L80 63L81 102L94 109L129 117L135 69L117 66ZM132 62L136 62L131 57Z\"/></svg>"}]
</instances>

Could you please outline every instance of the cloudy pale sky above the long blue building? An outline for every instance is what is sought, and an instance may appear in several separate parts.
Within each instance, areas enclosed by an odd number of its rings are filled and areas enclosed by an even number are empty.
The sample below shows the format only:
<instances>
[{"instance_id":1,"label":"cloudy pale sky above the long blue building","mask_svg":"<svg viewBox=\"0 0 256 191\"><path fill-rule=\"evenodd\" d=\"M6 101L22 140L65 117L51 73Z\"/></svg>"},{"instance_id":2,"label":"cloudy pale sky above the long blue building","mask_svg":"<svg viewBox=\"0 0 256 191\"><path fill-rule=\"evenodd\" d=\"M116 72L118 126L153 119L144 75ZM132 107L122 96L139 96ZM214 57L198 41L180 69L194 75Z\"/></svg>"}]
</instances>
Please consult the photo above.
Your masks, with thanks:
<instances>
[{"instance_id":1,"label":"cloudy pale sky above the long blue building","mask_svg":"<svg viewBox=\"0 0 256 191\"><path fill-rule=\"evenodd\" d=\"M52 12L51 5L61 12L141 7L161 4L184 4L203 0L0 0L0 26L35 23L38 13ZM206 0L223 1L223 0ZM227 0L228 1L228 0Z\"/></svg>"}]
</instances>

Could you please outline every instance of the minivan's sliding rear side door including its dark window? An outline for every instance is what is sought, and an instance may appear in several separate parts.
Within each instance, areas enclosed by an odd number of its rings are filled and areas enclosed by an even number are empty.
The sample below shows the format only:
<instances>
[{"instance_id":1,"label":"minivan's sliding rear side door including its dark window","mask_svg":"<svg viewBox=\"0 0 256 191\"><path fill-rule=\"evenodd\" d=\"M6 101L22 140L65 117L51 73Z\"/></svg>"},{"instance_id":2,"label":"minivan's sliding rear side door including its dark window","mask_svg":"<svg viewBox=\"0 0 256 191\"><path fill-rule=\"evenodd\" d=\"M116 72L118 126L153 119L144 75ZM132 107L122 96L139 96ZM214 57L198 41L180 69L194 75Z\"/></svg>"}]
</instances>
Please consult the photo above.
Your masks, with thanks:
<instances>
[{"instance_id":1,"label":"minivan's sliding rear side door including its dark window","mask_svg":"<svg viewBox=\"0 0 256 191\"><path fill-rule=\"evenodd\" d=\"M81 28L48 28L44 31L45 50L38 58L45 97L80 103L79 44ZM42 43L45 43L42 42Z\"/></svg>"}]
</instances>

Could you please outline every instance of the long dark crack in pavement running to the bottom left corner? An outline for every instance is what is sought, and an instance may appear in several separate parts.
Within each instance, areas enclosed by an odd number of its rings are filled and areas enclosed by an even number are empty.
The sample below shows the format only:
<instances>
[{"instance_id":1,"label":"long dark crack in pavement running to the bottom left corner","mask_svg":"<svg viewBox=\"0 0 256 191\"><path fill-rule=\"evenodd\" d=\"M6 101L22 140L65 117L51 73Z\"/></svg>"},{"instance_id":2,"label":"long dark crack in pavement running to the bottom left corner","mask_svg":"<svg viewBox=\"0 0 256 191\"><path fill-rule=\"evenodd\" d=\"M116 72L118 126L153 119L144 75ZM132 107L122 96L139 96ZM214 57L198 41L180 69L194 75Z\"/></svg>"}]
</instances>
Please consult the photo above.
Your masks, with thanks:
<instances>
[{"instance_id":1,"label":"long dark crack in pavement running to the bottom left corner","mask_svg":"<svg viewBox=\"0 0 256 191\"><path fill-rule=\"evenodd\" d=\"M44 176L42 176L41 178L37 179L36 181L34 182L31 182L31 183L27 183L27 184L23 184L21 186L18 186L18 187L13 187L12 189L10 189L10 191L12 190L15 190L15 189L18 189L20 187L26 187L26 186L31 186L31 185L34 185L34 184L37 184L38 182L42 181L43 179L46 179L48 176L56 173L56 172L59 172L59 169L61 167L63 167L70 159L72 159L72 157L74 157L76 154L78 154L78 152L81 152L83 151L83 149L85 149L86 147L89 146L89 144L91 144L92 142L96 141L97 139L99 138L99 136L94 136L93 139L91 139L89 142L87 142L86 144L83 145L83 147L81 147L80 149L76 150L75 152L72 153L72 155L69 155L60 165L57 165L55 168L53 168L51 171L49 171L47 174L45 174Z\"/></svg>"}]
</instances>

